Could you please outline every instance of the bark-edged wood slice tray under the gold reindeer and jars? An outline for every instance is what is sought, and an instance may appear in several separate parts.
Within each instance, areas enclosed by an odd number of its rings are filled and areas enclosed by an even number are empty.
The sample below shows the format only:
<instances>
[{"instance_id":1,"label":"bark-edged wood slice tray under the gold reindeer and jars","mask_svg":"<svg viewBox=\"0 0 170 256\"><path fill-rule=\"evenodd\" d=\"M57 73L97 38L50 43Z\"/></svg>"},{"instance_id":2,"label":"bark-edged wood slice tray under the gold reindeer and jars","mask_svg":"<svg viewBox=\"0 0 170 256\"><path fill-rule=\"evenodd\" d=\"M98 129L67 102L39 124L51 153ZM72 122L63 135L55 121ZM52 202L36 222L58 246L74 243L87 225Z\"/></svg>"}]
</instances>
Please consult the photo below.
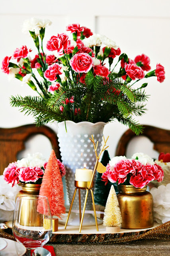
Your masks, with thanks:
<instances>
[{"instance_id":1,"label":"bark-edged wood slice tray under the gold reindeer and jars","mask_svg":"<svg viewBox=\"0 0 170 256\"><path fill-rule=\"evenodd\" d=\"M159 226L160 224L154 223L152 228ZM82 232L79 233L78 226L67 226L64 229L64 225L59 224L59 230L53 232L50 239L51 243L66 243L66 242L102 242L113 238L122 238L125 236L133 236L137 234L143 234L152 228L146 229L121 229L118 233L108 234L106 228L101 224L98 225L99 231L96 231L96 226L82 226Z\"/></svg>"}]
</instances>

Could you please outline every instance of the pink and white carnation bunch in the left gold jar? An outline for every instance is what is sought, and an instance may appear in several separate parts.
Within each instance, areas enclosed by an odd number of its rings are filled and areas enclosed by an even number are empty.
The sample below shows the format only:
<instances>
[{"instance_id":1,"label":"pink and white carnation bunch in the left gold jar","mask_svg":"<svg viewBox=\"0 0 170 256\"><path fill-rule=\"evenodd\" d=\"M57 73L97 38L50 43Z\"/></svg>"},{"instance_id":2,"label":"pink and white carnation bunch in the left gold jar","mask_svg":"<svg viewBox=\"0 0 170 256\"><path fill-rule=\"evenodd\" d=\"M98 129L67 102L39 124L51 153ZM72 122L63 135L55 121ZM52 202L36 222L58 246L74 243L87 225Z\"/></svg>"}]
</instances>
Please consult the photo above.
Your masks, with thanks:
<instances>
[{"instance_id":1,"label":"pink and white carnation bunch in the left gold jar","mask_svg":"<svg viewBox=\"0 0 170 256\"><path fill-rule=\"evenodd\" d=\"M58 159L57 162L61 177L63 177L66 174L64 164ZM11 184L12 187L19 182L21 182L21 184L41 184L46 165L47 161L42 154L28 154L27 158L12 162L5 168L3 173L4 180L6 180L8 184Z\"/></svg>"}]
</instances>

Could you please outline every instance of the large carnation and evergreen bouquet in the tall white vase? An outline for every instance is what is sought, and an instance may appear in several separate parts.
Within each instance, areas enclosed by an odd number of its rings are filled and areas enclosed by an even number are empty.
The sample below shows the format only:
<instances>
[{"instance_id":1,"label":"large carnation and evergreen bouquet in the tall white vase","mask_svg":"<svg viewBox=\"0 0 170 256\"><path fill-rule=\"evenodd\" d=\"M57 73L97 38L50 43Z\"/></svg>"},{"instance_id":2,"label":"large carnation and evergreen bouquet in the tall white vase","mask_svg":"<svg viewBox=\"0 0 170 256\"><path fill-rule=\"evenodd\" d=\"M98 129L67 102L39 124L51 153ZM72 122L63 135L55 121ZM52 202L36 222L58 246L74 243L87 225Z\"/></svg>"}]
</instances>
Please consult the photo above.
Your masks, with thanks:
<instances>
[{"instance_id":1,"label":"large carnation and evergreen bouquet in the tall white vase","mask_svg":"<svg viewBox=\"0 0 170 256\"><path fill-rule=\"evenodd\" d=\"M37 92L37 96L12 96L12 106L33 115L38 126L54 120L96 123L117 119L141 133L142 126L133 116L146 111L146 78L155 76L163 82L164 67L157 64L150 71L145 54L131 60L113 40L79 24L66 27L73 40L66 33L51 36L45 42L46 53L43 39L49 25L50 20L26 20L23 30L33 38L37 53L21 46L2 61L3 72ZM142 79L143 84L137 86Z\"/></svg>"}]
</instances>

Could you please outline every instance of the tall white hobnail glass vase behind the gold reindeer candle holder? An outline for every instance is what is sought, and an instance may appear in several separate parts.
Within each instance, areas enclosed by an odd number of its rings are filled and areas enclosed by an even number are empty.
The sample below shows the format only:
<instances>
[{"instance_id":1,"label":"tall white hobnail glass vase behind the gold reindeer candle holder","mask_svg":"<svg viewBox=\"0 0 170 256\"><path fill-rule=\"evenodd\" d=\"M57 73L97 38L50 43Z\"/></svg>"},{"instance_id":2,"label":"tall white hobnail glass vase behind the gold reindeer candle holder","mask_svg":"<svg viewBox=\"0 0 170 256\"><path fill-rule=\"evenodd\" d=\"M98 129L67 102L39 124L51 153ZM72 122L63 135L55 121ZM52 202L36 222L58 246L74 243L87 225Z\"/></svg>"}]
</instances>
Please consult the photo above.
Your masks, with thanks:
<instances>
[{"instance_id":1,"label":"tall white hobnail glass vase behind the gold reindeer candle holder","mask_svg":"<svg viewBox=\"0 0 170 256\"><path fill-rule=\"evenodd\" d=\"M66 168L65 179L69 202L72 200L75 189L75 170L84 168L84 165L86 165L86 168L88 169L94 169L96 154L94 152L94 145L89 138L92 138L93 134L94 141L98 141L97 153L99 154L102 146L102 136L105 124L106 123L104 122L97 122L95 124L91 122L74 123L69 120L57 123L57 136L59 138L61 159ZM84 190L81 191L82 206L84 204L85 192L86 191ZM86 204L86 210L91 210L91 208L92 199L89 196ZM76 194L72 209L79 209L78 194ZM83 221L83 225L86 225L85 222L86 220ZM73 223L72 225L78 226L80 225L80 222L78 224Z\"/></svg>"}]
</instances>

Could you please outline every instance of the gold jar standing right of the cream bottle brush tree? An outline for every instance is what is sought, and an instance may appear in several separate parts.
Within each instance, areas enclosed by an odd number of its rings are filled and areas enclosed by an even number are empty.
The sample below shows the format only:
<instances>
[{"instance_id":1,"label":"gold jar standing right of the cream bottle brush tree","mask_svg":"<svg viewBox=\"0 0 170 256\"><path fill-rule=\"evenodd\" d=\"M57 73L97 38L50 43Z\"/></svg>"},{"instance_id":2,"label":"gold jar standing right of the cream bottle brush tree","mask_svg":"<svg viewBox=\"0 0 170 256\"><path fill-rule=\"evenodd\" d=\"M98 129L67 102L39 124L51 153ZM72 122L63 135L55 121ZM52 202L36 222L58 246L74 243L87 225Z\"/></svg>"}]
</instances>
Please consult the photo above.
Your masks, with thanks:
<instances>
[{"instance_id":1,"label":"gold jar standing right of the cream bottle brush tree","mask_svg":"<svg viewBox=\"0 0 170 256\"><path fill-rule=\"evenodd\" d=\"M153 198L144 188L121 185L117 194L122 216L122 228L142 229L153 226Z\"/></svg>"}]
</instances>

